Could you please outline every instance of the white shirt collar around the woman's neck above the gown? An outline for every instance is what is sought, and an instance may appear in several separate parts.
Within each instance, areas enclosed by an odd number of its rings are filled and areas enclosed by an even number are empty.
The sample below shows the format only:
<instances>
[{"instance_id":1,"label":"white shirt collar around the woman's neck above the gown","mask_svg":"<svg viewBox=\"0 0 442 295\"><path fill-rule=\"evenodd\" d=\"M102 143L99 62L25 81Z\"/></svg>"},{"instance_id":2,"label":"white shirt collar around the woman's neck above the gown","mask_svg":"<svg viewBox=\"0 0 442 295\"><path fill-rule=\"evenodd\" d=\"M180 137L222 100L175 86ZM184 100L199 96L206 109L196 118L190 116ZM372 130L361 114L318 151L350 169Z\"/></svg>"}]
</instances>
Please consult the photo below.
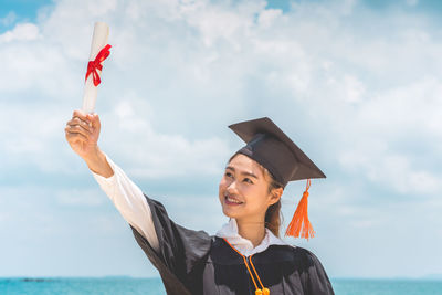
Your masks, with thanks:
<instances>
[{"instance_id":1,"label":"white shirt collar around the woman's neck above the gown","mask_svg":"<svg viewBox=\"0 0 442 295\"><path fill-rule=\"evenodd\" d=\"M225 223L215 234L218 238L227 239L244 256L250 256L260 252L264 252L270 245L288 245L277 236L275 236L267 228L265 228L265 236L261 244L253 247L251 241L242 238L238 233L238 224L234 218Z\"/></svg>"}]
</instances>

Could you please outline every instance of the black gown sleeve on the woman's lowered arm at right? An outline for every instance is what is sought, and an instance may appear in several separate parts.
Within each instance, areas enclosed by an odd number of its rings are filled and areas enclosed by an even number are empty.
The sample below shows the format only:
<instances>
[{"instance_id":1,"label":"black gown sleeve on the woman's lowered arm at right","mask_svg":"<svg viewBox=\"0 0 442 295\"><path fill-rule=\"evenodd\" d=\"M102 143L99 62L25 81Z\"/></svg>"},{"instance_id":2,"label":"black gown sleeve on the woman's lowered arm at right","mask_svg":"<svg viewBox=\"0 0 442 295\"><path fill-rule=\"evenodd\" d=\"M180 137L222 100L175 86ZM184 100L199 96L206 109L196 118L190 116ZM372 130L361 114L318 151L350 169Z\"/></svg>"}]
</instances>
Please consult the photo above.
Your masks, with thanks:
<instances>
[{"instance_id":1,"label":"black gown sleeve on the woman's lowered arm at right","mask_svg":"<svg viewBox=\"0 0 442 295\"><path fill-rule=\"evenodd\" d=\"M305 251L305 268L301 274L303 288L308 295L334 295L330 280L319 260L312 252Z\"/></svg>"}]
</instances>

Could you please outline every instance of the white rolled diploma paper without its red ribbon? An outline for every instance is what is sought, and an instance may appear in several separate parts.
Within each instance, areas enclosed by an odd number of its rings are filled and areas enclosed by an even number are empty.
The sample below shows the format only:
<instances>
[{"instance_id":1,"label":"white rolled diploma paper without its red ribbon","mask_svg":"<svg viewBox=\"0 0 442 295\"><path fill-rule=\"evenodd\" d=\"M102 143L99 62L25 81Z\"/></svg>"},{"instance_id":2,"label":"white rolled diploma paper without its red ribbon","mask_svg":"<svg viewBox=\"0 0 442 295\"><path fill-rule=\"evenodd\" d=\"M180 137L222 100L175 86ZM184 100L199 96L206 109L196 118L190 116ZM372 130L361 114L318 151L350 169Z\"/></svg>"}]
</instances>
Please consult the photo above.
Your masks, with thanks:
<instances>
[{"instance_id":1,"label":"white rolled diploma paper without its red ribbon","mask_svg":"<svg viewBox=\"0 0 442 295\"><path fill-rule=\"evenodd\" d=\"M106 46L107 38L109 36L109 27L104 22L96 22L94 27L94 34L92 36L90 61L95 60L98 52ZM97 70L101 75L102 72ZM97 97L97 87L94 85L92 74L87 77L84 84L83 94L83 112L93 113L95 108L95 101Z\"/></svg>"}]
</instances>

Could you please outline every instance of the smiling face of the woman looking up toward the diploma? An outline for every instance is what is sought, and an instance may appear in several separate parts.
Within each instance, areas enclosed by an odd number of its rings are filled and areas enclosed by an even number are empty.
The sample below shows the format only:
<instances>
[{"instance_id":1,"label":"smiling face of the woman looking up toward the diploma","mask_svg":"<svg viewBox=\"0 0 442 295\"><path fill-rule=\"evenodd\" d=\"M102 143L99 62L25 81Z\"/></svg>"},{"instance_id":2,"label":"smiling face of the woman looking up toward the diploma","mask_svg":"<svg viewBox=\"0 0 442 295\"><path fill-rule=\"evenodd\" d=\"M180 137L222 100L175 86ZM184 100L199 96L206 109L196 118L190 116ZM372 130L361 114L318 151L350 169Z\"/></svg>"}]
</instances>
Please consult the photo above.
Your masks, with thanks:
<instances>
[{"instance_id":1,"label":"smiling face of the woman looking up toward the diploma","mask_svg":"<svg viewBox=\"0 0 442 295\"><path fill-rule=\"evenodd\" d=\"M244 155L236 155L225 167L219 198L225 215L236 221L264 222L269 206L281 196L269 193L270 177Z\"/></svg>"}]
</instances>

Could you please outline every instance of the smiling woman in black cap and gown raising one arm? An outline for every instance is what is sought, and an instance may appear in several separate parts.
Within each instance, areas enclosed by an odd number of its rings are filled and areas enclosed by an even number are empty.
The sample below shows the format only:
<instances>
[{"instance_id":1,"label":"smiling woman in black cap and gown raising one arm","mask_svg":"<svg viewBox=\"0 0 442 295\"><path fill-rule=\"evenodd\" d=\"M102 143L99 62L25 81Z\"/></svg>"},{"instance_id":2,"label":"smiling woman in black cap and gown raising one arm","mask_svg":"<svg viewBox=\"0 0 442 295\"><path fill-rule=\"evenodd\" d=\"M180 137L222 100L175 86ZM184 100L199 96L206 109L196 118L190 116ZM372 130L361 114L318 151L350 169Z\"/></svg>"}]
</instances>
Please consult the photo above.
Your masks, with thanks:
<instances>
[{"instance_id":1,"label":"smiling woman in black cap and gown raising one arm","mask_svg":"<svg viewBox=\"0 0 442 295\"><path fill-rule=\"evenodd\" d=\"M324 173L269 118L229 127L246 145L231 157L219 185L230 221L215 236L176 224L161 203L145 196L99 150L98 115L75 110L65 135L130 224L168 294L334 294L317 257L277 238L286 183ZM302 211L306 208L297 210ZM304 219L303 235L308 238L313 230Z\"/></svg>"}]
</instances>

